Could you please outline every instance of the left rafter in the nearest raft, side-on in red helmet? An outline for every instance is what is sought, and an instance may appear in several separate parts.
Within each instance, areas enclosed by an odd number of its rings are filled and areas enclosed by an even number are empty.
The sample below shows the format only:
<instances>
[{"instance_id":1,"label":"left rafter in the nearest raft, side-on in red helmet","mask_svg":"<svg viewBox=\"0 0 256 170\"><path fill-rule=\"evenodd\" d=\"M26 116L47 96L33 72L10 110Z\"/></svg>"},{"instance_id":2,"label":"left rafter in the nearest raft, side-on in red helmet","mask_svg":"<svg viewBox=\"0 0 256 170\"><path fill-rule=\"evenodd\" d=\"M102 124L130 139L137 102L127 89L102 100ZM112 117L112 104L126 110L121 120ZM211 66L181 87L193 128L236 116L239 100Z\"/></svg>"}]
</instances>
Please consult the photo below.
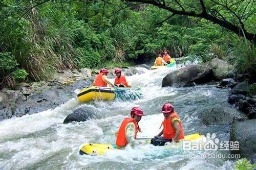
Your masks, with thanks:
<instances>
[{"instance_id":1,"label":"left rafter in the nearest raft, side-on in red helmet","mask_svg":"<svg viewBox=\"0 0 256 170\"><path fill-rule=\"evenodd\" d=\"M131 110L131 117L123 119L116 137L117 149L125 147L128 143L131 145L139 144L136 140L137 133L140 131L138 123L143 116L143 111L139 107L134 107ZM141 131L140 131L141 132Z\"/></svg>"}]
</instances>

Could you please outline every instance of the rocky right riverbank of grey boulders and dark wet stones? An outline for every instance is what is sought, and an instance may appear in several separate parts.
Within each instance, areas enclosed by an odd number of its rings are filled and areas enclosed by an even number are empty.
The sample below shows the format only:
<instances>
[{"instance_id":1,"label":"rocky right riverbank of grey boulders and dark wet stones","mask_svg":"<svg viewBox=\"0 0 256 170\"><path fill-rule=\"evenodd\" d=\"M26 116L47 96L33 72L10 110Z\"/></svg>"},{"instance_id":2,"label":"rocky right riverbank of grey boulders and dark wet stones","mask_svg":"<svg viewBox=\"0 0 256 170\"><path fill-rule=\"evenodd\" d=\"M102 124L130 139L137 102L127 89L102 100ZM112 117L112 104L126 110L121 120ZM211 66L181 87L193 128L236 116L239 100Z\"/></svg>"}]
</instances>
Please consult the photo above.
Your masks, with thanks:
<instances>
[{"instance_id":1,"label":"rocky right riverbank of grey boulders and dark wet stones","mask_svg":"<svg viewBox=\"0 0 256 170\"><path fill-rule=\"evenodd\" d=\"M253 80L252 80L253 79ZM205 65L187 65L163 78L162 87L186 87L209 81L220 81L217 88L229 88L227 102L230 107L211 106L203 111L199 118L207 126L231 125L230 141L241 144L239 151L242 157L256 160L256 96L249 95L249 82L243 75L234 74L234 66L220 59L212 59ZM247 120L253 119L253 120Z\"/></svg>"}]
</instances>

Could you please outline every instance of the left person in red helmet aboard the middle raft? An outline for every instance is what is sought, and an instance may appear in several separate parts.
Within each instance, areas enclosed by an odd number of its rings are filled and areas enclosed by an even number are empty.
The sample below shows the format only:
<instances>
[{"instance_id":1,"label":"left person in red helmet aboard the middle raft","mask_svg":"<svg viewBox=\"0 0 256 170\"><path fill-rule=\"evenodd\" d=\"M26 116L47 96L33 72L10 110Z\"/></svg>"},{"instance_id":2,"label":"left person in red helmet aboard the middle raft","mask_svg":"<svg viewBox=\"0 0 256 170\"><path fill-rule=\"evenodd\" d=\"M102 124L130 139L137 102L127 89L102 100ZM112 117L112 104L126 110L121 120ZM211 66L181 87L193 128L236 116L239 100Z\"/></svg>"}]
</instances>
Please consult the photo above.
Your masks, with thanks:
<instances>
[{"instance_id":1,"label":"left person in red helmet aboard the middle raft","mask_svg":"<svg viewBox=\"0 0 256 170\"><path fill-rule=\"evenodd\" d=\"M94 86L101 86L101 87L106 87L109 85L110 87L114 87L114 84L111 83L111 81L106 77L108 75L109 71L105 68L102 68L99 71L99 74L96 76L93 85Z\"/></svg>"}]
</instances>

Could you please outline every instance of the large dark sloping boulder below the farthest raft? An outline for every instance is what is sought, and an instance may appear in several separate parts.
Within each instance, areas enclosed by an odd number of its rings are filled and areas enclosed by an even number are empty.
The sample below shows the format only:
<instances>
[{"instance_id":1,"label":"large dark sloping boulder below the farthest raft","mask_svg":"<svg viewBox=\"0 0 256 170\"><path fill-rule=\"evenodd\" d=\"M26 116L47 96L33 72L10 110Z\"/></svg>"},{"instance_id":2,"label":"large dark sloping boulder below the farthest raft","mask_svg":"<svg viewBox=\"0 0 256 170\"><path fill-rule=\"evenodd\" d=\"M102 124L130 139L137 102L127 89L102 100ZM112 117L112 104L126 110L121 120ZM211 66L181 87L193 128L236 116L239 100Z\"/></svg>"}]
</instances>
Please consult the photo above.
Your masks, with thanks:
<instances>
[{"instance_id":1,"label":"large dark sloping boulder below the farthest raft","mask_svg":"<svg viewBox=\"0 0 256 170\"><path fill-rule=\"evenodd\" d=\"M212 78L211 70L204 65L188 65L181 69L169 73L163 78L162 87L185 87L194 83L200 84L210 81Z\"/></svg>"}]
</instances>

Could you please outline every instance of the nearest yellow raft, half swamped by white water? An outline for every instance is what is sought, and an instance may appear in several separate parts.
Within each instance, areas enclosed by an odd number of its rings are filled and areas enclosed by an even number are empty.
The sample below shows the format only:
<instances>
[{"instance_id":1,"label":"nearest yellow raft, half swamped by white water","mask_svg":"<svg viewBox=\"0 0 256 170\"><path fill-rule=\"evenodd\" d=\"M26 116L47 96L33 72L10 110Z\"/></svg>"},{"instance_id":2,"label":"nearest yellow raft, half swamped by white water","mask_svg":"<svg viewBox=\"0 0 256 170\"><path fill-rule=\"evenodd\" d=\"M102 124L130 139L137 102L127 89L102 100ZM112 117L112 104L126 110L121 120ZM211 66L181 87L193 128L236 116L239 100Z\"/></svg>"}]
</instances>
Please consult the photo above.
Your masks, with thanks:
<instances>
[{"instance_id":1,"label":"nearest yellow raft, half swamped by white water","mask_svg":"<svg viewBox=\"0 0 256 170\"><path fill-rule=\"evenodd\" d=\"M184 137L183 141L190 141L190 142L201 142L203 138L203 135L200 133L187 135ZM182 142L183 142L182 141ZM150 143L150 140L147 141ZM175 143L175 145L165 145L163 147L166 147L166 149L179 149L182 147L182 142ZM115 144L99 144L99 143L86 143L84 144L80 151L80 155L106 155L109 152L119 152L120 150L116 149Z\"/></svg>"}]
</instances>

